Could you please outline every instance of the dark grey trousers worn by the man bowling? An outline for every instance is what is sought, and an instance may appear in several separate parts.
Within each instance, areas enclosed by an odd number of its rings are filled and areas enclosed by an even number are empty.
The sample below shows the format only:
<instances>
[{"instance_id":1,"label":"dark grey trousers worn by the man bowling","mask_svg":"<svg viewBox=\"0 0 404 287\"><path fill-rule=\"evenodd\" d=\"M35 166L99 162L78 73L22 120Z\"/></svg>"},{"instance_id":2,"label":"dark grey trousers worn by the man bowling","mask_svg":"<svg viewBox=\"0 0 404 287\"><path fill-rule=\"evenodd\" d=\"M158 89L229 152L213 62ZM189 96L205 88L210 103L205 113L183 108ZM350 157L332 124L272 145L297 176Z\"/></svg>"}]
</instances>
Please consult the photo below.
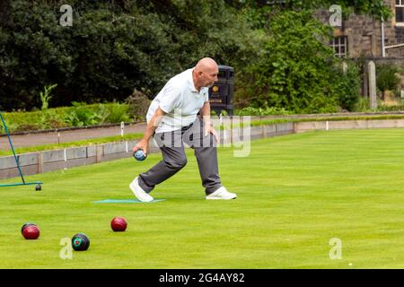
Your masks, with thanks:
<instances>
[{"instance_id":1,"label":"dark grey trousers worn by the man bowling","mask_svg":"<svg viewBox=\"0 0 404 287\"><path fill-rule=\"evenodd\" d=\"M194 123L180 130L154 134L154 139L162 151L162 161L139 175L139 186L145 192L151 192L156 185L171 178L185 167L187 157L184 143L194 150L206 195L222 187L217 164L216 139L210 133L203 135L203 125L203 120L197 117Z\"/></svg>"}]
</instances>

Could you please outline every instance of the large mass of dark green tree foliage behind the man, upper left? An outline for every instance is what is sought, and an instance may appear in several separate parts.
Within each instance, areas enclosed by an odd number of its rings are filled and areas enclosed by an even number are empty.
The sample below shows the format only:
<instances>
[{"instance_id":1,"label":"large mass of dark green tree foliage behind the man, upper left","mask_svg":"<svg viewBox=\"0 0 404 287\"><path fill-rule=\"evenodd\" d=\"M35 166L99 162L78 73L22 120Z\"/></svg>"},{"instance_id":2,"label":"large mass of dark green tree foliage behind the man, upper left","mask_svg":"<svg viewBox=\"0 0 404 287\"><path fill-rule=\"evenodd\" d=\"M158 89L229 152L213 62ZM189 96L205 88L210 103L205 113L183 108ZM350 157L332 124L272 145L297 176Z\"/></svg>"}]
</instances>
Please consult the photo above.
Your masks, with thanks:
<instances>
[{"instance_id":1,"label":"large mass of dark green tree foliage behind the man, upper left","mask_svg":"<svg viewBox=\"0 0 404 287\"><path fill-rule=\"evenodd\" d=\"M134 89L153 97L200 57L242 68L260 49L224 1L72 0L72 27L59 25L61 4L10 3L0 27L1 109L40 108L40 91L55 83L51 107L122 101Z\"/></svg>"}]
</instances>

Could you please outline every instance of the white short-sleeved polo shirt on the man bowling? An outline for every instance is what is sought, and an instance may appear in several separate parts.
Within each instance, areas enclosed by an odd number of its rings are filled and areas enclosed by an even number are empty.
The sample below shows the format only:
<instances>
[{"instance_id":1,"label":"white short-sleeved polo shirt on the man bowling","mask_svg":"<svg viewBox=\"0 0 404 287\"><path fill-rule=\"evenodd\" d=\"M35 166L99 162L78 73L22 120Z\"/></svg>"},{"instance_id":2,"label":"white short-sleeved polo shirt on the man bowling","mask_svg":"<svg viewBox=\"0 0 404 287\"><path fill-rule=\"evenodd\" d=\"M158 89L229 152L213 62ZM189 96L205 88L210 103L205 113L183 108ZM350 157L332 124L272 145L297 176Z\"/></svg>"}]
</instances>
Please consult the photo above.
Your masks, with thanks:
<instances>
[{"instance_id":1,"label":"white short-sleeved polo shirt on the man bowling","mask_svg":"<svg viewBox=\"0 0 404 287\"><path fill-rule=\"evenodd\" d=\"M147 111L147 123L160 107L167 114L162 117L156 133L166 133L189 126L197 118L208 98L208 87L202 87L198 92L192 79L192 71L188 69L172 77L154 98Z\"/></svg>"}]
</instances>

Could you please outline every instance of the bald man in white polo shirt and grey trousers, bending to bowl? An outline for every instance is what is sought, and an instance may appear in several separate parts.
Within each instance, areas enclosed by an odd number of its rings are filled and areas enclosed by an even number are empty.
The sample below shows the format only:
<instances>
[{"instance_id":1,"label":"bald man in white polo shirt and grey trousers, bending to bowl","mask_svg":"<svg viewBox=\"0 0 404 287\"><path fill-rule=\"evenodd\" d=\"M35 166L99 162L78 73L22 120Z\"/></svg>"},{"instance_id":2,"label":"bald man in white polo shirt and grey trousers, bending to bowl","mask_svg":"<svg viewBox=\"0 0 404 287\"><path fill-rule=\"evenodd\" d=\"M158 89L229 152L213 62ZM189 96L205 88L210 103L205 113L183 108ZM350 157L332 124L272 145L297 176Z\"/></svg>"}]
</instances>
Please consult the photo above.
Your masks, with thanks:
<instances>
[{"instance_id":1,"label":"bald man in white polo shirt and grey trousers, bending to bowl","mask_svg":"<svg viewBox=\"0 0 404 287\"><path fill-rule=\"evenodd\" d=\"M152 101L147 112L145 135L132 152L149 150L154 139L162 151L162 161L139 174L129 185L142 202L154 200L149 193L187 164L184 143L194 149L206 199L233 199L237 196L222 186L217 166L217 135L210 122L208 89L219 73L212 58L172 77ZM200 117L198 117L198 113Z\"/></svg>"}]
</instances>

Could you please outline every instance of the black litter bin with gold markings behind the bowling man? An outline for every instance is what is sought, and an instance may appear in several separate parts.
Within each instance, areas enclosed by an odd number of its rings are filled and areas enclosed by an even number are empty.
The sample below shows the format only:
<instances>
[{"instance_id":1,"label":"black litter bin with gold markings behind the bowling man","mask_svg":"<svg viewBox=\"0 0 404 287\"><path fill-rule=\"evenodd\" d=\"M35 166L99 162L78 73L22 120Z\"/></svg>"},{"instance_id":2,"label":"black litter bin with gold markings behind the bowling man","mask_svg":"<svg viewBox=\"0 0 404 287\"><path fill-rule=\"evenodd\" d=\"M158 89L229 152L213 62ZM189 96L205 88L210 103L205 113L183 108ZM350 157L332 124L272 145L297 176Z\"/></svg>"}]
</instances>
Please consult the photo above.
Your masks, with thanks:
<instances>
[{"instance_id":1,"label":"black litter bin with gold markings behind the bowling man","mask_svg":"<svg viewBox=\"0 0 404 287\"><path fill-rule=\"evenodd\" d=\"M229 65L218 65L218 81L209 88L210 109L219 115L225 110L233 116L234 68Z\"/></svg>"}]
</instances>

